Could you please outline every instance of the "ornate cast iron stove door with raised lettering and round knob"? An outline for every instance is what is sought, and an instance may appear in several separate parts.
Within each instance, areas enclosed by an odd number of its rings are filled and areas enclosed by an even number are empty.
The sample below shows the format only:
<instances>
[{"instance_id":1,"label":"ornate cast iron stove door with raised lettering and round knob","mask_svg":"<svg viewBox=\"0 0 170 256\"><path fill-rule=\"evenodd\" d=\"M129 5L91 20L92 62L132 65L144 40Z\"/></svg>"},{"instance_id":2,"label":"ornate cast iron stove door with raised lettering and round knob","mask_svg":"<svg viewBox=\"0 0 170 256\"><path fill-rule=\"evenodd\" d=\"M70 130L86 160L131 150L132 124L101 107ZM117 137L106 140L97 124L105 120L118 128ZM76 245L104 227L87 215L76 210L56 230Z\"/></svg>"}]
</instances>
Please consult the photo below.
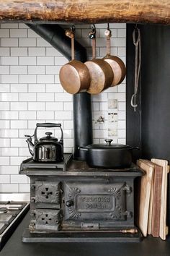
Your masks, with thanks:
<instances>
[{"instance_id":1,"label":"ornate cast iron stove door with raised lettering and round knob","mask_svg":"<svg viewBox=\"0 0 170 256\"><path fill-rule=\"evenodd\" d=\"M132 188L125 182L67 182L65 191L65 220L125 221L132 217L126 209L126 196Z\"/></svg>"}]
</instances>

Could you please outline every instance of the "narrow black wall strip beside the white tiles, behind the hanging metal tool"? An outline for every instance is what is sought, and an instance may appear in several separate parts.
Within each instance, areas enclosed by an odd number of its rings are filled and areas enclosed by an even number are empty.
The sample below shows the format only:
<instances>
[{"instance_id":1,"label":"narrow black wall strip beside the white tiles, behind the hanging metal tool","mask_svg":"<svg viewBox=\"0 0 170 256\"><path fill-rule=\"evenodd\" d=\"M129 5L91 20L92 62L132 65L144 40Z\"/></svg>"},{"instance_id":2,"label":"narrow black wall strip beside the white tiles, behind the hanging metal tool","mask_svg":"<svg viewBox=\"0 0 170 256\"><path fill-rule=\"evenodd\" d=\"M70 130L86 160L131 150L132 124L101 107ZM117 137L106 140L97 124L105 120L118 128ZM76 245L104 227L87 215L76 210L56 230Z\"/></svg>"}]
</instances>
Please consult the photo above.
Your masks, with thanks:
<instances>
[{"instance_id":1,"label":"narrow black wall strip beside the white tiles, behind the hanging metal tool","mask_svg":"<svg viewBox=\"0 0 170 256\"><path fill-rule=\"evenodd\" d=\"M135 46L133 45L133 30L135 25L127 25L127 60L126 60L126 142L128 145L140 148L133 151L133 161L141 157L141 104L140 104L140 80L138 86L137 103L138 108L134 112L130 105L131 97L134 93L134 76L135 76Z\"/></svg>"}]
</instances>

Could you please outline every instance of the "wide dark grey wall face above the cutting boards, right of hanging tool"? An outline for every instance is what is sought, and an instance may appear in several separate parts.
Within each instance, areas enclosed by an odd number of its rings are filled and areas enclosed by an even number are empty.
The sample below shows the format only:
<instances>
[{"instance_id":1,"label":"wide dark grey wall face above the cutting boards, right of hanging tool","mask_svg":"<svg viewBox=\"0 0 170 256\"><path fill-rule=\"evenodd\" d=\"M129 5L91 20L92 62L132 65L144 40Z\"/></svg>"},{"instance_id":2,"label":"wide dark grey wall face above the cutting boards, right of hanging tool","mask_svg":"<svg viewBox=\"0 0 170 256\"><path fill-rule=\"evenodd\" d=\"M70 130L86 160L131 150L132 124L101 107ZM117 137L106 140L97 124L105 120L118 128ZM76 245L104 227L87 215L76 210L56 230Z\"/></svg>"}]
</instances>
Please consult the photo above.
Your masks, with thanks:
<instances>
[{"instance_id":1,"label":"wide dark grey wall face above the cutting boards, right of hanging tool","mask_svg":"<svg viewBox=\"0 0 170 256\"><path fill-rule=\"evenodd\" d=\"M170 27L147 25L142 36L142 153L170 160Z\"/></svg>"}]
</instances>

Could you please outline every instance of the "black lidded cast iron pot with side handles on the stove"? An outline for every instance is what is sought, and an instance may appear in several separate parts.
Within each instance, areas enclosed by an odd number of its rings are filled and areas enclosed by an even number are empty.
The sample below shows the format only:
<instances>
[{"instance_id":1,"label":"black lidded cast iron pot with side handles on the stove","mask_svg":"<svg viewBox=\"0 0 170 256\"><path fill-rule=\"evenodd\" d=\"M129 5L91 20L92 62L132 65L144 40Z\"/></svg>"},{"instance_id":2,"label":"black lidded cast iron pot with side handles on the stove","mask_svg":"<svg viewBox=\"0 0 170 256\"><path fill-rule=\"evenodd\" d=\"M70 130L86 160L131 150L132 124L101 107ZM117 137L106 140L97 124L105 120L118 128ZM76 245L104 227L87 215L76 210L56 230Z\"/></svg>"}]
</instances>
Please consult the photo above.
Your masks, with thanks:
<instances>
[{"instance_id":1,"label":"black lidded cast iron pot with side handles on the stove","mask_svg":"<svg viewBox=\"0 0 170 256\"><path fill-rule=\"evenodd\" d=\"M111 144L112 140L105 140L107 144L91 144L80 150L86 150L86 163L96 168L129 168L132 163L133 148L129 145Z\"/></svg>"}]
</instances>

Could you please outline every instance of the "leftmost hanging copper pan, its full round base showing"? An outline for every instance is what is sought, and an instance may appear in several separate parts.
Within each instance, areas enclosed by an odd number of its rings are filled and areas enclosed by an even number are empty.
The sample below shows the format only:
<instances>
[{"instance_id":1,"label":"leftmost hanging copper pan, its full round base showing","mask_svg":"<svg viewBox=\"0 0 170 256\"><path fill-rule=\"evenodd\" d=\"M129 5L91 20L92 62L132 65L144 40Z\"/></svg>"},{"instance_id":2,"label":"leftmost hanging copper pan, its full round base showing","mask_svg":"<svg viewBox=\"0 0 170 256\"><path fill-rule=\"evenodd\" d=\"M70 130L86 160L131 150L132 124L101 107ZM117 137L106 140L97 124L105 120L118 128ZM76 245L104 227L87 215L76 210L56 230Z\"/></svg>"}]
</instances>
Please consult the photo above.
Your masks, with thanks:
<instances>
[{"instance_id":1,"label":"leftmost hanging copper pan, its full round base showing","mask_svg":"<svg viewBox=\"0 0 170 256\"><path fill-rule=\"evenodd\" d=\"M67 93L82 93L90 85L89 70L84 63L74 59L74 30L66 30L66 35L71 38L71 61L61 67L59 78Z\"/></svg>"}]
</instances>

